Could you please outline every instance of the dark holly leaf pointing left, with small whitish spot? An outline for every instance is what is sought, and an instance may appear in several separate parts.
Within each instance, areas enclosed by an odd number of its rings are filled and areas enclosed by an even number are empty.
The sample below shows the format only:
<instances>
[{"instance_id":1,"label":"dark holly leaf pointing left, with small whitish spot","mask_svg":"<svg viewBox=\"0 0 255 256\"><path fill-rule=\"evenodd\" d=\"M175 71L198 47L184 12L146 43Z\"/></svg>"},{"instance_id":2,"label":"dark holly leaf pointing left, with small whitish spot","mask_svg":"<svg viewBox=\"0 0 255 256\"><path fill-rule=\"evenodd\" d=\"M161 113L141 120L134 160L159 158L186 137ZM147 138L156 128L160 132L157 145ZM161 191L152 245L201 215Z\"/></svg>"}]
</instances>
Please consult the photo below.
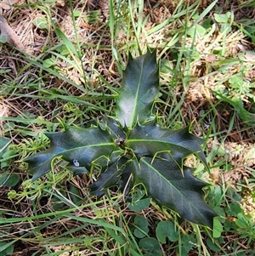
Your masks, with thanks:
<instances>
[{"instance_id":1,"label":"dark holly leaf pointing left, with small whitish spot","mask_svg":"<svg viewBox=\"0 0 255 256\"><path fill-rule=\"evenodd\" d=\"M70 162L79 174L81 170L86 172L100 156L110 156L115 148L111 135L101 128L67 127L65 132L46 135L51 139L48 150L26 158L32 180L47 174L56 156Z\"/></svg>"}]
</instances>

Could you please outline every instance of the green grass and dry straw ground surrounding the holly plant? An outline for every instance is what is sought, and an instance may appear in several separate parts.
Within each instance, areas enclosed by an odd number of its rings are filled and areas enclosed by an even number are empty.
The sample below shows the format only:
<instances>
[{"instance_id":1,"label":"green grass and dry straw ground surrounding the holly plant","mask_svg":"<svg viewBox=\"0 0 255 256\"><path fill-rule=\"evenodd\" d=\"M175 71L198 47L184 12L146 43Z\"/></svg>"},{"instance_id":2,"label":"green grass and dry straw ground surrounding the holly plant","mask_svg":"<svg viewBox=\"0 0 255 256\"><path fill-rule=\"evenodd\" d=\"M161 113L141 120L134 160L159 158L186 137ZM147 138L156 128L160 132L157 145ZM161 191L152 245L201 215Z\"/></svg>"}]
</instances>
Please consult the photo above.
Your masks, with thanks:
<instances>
[{"instance_id":1,"label":"green grass and dry straw ground surrounding the holly plant","mask_svg":"<svg viewBox=\"0 0 255 256\"><path fill-rule=\"evenodd\" d=\"M177 238L166 235L163 255L252 255L255 3L230 9L220 1L200 2L166 7L110 0L109 9L88 9L68 1L64 10L40 2L4 12L27 53L0 45L3 255L143 255L143 239L158 241L157 227L166 220ZM59 122L86 125L101 112L111 115L128 52L138 56L147 46L157 48L160 60L159 122L167 128L191 122L193 132L207 138L211 176L201 162L187 162L209 183L207 202L219 214L212 231L180 225L176 214L153 202L146 207L139 191L134 209L117 193L96 201L87 189L96 177L73 177L61 162L33 183L26 174L22 160L48 146L43 133L58 131ZM136 216L147 220L148 230ZM144 236L135 236L135 229Z\"/></svg>"}]
</instances>

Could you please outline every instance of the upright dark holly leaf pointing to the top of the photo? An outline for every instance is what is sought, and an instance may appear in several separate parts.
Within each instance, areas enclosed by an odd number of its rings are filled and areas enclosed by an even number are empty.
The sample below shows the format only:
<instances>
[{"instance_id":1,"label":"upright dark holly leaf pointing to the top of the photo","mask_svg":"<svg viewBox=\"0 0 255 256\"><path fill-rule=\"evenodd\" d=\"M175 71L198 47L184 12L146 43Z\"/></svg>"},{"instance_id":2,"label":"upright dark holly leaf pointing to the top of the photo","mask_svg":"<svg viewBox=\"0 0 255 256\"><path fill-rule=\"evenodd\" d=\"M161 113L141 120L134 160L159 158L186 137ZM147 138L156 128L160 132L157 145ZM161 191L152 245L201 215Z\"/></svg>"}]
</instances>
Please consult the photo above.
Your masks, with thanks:
<instances>
[{"instance_id":1,"label":"upright dark holly leaf pointing to the top of the photo","mask_svg":"<svg viewBox=\"0 0 255 256\"><path fill-rule=\"evenodd\" d=\"M122 87L116 97L116 119L122 128L154 119L152 107L159 92L159 70L156 64L156 50L133 59L129 56L123 72Z\"/></svg>"}]
</instances>

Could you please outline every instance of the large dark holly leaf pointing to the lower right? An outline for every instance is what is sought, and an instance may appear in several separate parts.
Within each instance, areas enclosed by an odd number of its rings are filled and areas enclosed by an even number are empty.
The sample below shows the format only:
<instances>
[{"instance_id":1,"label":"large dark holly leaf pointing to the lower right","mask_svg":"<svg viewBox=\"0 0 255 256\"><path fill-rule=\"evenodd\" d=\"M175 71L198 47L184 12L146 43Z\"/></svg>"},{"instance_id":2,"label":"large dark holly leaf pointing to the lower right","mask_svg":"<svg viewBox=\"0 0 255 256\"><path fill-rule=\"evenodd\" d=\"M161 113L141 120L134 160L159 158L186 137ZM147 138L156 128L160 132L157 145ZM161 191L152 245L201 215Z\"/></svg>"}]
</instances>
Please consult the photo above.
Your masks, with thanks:
<instances>
[{"instance_id":1,"label":"large dark holly leaf pointing to the lower right","mask_svg":"<svg viewBox=\"0 0 255 256\"><path fill-rule=\"evenodd\" d=\"M204 201L202 188L207 185L192 175L192 169L184 167L180 171L178 164L169 160L142 157L133 161L133 172L137 183L142 183L159 205L178 213L191 222L212 227L214 211Z\"/></svg>"}]
</instances>

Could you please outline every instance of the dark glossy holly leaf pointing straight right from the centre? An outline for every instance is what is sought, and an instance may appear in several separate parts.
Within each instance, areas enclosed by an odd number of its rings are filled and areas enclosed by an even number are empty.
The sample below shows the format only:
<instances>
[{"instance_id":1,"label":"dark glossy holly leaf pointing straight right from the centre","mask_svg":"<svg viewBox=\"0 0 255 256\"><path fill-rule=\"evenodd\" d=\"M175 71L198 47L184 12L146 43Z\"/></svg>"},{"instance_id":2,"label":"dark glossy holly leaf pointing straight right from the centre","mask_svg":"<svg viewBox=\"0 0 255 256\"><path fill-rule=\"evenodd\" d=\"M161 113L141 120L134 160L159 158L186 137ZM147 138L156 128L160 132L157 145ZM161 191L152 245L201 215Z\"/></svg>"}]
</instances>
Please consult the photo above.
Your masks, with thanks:
<instances>
[{"instance_id":1,"label":"dark glossy holly leaf pointing straight right from the centre","mask_svg":"<svg viewBox=\"0 0 255 256\"><path fill-rule=\"evenodd\" d=\"M137 125L130 132L126 145L137 156L155 156L159 152L169 152L176 161L197 154L207 166L207 160L201 151L204 140L189 133L189 128L170 130L161 128L156 123ZM180 164L179 162L179 164Z\"/></svg>"}]
</instances>

